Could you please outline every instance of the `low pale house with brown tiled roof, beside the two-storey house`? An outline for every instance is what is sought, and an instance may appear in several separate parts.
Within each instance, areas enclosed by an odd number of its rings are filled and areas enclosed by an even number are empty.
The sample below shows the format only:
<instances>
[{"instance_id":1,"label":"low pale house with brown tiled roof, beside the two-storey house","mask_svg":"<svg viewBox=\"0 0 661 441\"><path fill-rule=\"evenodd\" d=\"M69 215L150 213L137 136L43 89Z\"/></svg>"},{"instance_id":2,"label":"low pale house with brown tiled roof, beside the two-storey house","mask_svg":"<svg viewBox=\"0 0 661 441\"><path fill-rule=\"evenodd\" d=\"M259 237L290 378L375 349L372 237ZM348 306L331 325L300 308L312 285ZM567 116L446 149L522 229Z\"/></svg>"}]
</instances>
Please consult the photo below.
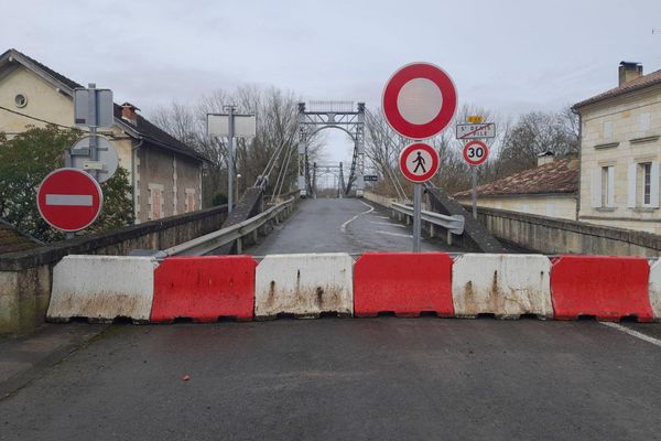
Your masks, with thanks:
<instances>
[{"instance_id":1,"label":"low pale house with brown tiled roof, beside the two-storey house","mask_svg":"<svg viewBox=\"0 0 661 441\"><path fill-rule=\"evenodd\" d=\"M477 186L477 206L576 219L578 160L538 158L538 166ZM455 193L463 205L472 204L473 191Z\"/></svg>"}]
</instances>

